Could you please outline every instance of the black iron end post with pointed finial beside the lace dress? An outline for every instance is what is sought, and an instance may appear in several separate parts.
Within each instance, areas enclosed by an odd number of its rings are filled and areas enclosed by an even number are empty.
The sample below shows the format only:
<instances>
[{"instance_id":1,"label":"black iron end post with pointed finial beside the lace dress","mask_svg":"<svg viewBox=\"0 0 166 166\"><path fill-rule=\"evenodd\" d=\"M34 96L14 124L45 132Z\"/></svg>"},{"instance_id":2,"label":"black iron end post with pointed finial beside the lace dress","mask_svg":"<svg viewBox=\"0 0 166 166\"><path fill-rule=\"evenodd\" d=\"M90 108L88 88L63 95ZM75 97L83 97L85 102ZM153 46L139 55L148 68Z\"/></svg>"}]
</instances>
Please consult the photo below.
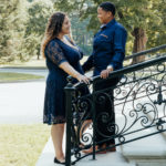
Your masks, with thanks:
<instances>
[{"instance_id":1,"label":"black iron end post with pointed finial beside the lace dress","mask_svg":"<svg viewBox=\"0 0 166 166\"><path fill-rule=\"evenodd\" d=\"M72 96L74 94L73 84L70 82L64 87L65 91L65 113L66 113L66 143L65 143L65 166L71 166L71 125L72 125Z\"/></svg>"}]
</instances>

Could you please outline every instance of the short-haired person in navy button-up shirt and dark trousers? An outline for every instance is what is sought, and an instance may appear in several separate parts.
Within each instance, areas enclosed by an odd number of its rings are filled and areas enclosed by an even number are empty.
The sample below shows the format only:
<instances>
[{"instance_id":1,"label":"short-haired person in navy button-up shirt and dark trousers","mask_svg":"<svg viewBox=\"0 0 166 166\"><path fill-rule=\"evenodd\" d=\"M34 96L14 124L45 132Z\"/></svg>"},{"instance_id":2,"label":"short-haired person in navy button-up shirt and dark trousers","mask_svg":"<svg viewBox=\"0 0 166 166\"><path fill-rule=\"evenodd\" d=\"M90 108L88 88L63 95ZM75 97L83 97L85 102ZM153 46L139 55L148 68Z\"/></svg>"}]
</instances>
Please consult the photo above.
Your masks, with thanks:
<instances>
[{"instance_id":1,"label":"short-haired person in navy button-up shirt and dark trousers","mask_svg":"<svg viewBox=\"0 0 166 166\"><path fill-rule=\"evenodd\" d=\"M102 79L106 79L110 72L114 70L118 70L123 68L123 60L125 58L125 44L127 32L124 27L118 23L115 18L115 7L111 2L103 2L97 9L97 18L102 23L101 30L94 35L93 40L93 53L89 56L87 61L83 64L83 70L86 72L94 68L93 75L101 75ZM116 85L118 82L118 77L114 80L103 80L94 87L94 91L103 90ZM100 132L96 132L96 144L98 146L107 146L114 145L115 141L112 138L108 142L104 142L104 144L100 144L98 142L103 142L104 136L112 136L115 134L115 131L108 132L106 131L107 126L102 123L102 117L98 117L100 114L107 113L110 115L110 120L112 124L115 124L115 115L114 115L114 106L113 106L113 91L111 94L112 103L107 103L105 105L100 105L96 103L96 126ZM111 108L108 108L111 107ZM112 148L112 151L116 151ZM91 153L91 151L87 151Z\"/></svg>"}]
</instances>

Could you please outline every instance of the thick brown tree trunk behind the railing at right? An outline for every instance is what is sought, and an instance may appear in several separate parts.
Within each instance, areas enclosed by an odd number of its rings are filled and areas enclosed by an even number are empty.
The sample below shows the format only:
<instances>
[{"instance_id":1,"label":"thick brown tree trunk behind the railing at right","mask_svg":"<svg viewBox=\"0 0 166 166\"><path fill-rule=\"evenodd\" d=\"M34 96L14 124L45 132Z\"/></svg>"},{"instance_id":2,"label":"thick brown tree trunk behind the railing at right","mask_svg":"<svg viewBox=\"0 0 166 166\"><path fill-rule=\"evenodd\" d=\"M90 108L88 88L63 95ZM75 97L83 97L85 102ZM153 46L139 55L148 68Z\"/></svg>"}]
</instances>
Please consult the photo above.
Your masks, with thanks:
<instances>
[{"instance_id":1,"label":"thick brown tree trunk behind the railing at right","mask_svg":"<svg viewBox=\"0 0 166 166\"><path fill-rule=\"evenodd\" d=\"M135 38L133 53L144 51L146 49L146 32L142 28L135 28L132 32L132 35ZM145 61L145 55L133 58L132 64L139 63Z\"/></svg>"}]
</instances>

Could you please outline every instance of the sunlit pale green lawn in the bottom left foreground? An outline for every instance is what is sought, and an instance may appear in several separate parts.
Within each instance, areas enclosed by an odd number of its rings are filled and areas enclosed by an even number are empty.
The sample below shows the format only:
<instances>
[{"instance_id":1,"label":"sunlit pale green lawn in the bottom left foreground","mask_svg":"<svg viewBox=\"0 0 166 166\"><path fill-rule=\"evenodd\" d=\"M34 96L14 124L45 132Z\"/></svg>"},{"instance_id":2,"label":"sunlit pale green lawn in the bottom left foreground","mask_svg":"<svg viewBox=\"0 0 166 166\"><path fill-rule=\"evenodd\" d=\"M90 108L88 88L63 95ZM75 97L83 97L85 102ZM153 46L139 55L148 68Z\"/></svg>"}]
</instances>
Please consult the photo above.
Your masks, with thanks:
<instances>
[{"instance_id":1,"label":"sunlit pale green lawn in the bottom left foreground","mask_svg":"<svg viewBox=\"0 0 166 166\"><path fill-rule=\"evenodd\" d=\"M0 125L0 166L35 166L50 136L50 126Z\"/></svg>"}]
</instances>

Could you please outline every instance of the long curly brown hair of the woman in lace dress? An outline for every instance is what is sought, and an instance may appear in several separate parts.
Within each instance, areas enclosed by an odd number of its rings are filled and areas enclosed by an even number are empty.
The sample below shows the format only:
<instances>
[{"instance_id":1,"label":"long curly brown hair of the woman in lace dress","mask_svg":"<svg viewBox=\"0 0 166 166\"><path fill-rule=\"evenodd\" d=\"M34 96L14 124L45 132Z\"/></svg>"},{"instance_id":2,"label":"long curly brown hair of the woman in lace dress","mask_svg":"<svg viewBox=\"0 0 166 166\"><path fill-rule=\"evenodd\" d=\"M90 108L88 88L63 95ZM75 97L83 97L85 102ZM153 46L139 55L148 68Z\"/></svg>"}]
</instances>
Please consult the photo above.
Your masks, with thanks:
<instances>
[{"instance_id":1,"label":"long curly brown hair of the woman in lace dress","mask_svg":"<svg viewBox=\"0 0 166 166\"><path fill-rule=\"evenodd\" d=\"M44 53L45 46L52 39L58 37L58 34L61 32L65 15L66 14L63 12L55 12L49 19L45 33L44 33L44 38L41 44L41 54L44 58L45 58L45 53Z\"/></svg>"}]
</instances>

